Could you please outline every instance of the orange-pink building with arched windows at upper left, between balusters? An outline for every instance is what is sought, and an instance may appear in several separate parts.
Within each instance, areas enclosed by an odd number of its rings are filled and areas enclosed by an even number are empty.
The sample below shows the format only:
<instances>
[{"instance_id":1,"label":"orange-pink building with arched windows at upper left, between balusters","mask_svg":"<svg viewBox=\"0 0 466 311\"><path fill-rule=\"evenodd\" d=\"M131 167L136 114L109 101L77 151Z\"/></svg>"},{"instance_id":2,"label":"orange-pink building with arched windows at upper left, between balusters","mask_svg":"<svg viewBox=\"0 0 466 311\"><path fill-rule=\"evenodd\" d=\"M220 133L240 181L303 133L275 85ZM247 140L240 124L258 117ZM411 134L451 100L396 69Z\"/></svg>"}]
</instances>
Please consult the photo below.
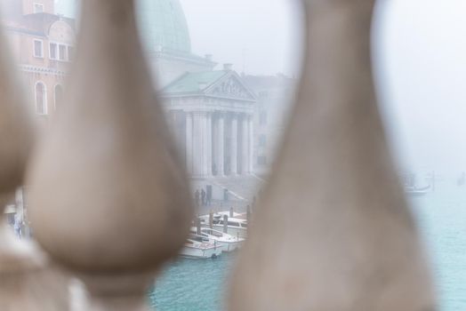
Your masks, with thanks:
<instances>
[{"instance_id":1,"label":"orange-pink building with arched windows at upper left, between balusters","mask_svg":"<svg viewBox=\"0 0 466 311\"><path fill-rule=\"evenodd\" d=\"M75 22L54 13L53 0L4 0L4 28L28 101L37 116L53 114L76 44Z\"/></svg>"}]
</instances>

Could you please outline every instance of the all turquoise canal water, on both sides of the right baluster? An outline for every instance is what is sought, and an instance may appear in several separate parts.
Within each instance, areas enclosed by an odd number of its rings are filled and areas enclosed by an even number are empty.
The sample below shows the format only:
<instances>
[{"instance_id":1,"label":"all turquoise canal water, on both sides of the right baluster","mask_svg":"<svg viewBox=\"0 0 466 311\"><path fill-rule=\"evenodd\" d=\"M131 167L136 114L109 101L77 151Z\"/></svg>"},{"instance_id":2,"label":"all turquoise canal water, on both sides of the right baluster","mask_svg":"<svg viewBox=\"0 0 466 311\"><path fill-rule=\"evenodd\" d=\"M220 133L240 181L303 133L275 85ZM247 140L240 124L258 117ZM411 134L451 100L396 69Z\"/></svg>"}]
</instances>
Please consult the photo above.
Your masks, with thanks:
<instances>
[{"instance_id":1,"label":"all turquoise canal water, on both sides of the right baluster","mask_svg":"<svg viewBox=\"0 0 466 311\"><path fill-rule=\"evenodd\" d=\"M466 186L439 181L435 191L411 198L430 255L441 311L466 310ZM157 311L221 311L236 255L180 259L165 267L149 293Z\"/></svg>"}]
</instances>

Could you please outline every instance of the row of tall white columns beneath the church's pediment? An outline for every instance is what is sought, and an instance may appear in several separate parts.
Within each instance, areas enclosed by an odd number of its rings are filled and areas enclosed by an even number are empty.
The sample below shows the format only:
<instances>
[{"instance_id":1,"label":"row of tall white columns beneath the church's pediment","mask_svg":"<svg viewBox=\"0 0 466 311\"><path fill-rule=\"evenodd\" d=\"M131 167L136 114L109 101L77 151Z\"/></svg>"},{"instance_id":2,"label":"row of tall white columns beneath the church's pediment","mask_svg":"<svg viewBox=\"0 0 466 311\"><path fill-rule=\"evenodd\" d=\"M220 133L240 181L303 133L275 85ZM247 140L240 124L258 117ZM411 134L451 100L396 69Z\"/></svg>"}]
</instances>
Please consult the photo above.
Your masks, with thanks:
<instances>
[{"instance_id":1,"label":"row of tall white columns beneath the church's pediment","mask_svg":"<svg viewBox=\"0 0 466 311\"><path fill-rule=\"evenodd\" d=\"M192 177L253 172L253 116L224 110L169 110L173 133Z\"/></svg>"}]
</instances>

